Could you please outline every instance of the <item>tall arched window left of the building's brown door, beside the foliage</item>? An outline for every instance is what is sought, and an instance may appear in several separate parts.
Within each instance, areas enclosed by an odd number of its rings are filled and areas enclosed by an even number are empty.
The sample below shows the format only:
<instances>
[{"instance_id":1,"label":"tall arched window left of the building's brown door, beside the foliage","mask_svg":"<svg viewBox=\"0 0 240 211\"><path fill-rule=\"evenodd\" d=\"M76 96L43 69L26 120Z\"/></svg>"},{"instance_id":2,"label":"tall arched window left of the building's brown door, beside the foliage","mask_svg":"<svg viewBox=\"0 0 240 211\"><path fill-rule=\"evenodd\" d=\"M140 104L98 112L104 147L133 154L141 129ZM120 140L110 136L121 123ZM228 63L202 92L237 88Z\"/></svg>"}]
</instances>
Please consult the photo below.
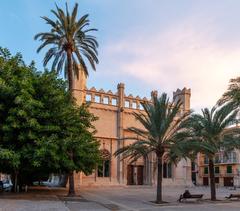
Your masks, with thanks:
<instances>
[{"instance_id":1,"label":"tall arched window left of the building's brown door, beside the foliage","mask_svg":"<svg viewBox=\"0 0 240 211\"><path fill-rule=\"evenodd\" d=\"M106 150L101 150L102 161L98 165L97 172L98 177L109 177L110 176L110 165L111 165L111 153Z\"/></svg>"}]
</instances>

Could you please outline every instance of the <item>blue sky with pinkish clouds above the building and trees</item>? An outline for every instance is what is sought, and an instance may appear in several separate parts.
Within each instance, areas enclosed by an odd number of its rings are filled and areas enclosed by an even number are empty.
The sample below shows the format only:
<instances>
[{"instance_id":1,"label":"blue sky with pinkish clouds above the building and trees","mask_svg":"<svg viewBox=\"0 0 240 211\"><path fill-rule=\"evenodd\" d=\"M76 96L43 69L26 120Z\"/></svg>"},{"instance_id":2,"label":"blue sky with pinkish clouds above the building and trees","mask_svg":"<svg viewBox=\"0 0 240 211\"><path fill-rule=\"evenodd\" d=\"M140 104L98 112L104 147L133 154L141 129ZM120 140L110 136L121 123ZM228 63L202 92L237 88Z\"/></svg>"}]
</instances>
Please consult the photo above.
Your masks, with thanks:
<instances>
[{"instance_id":1,"label":"blue sky with pinkish clouds above the building and trees","mask_svg":"<svg viewBox=\"0 0 240 211\"><path fill-rule=\"evenodd\" d=\"M172 98L191 88L191 107L212 107L240 76L239 0L67 0L90 15L99 41L97 71L87 86L150 97L152 90ZM21 52L26 63L43 70L44 51L36 53L36 33L49 31L40 18L64 0L1 0L0 46Z\"/></svg>"}]
</instances>

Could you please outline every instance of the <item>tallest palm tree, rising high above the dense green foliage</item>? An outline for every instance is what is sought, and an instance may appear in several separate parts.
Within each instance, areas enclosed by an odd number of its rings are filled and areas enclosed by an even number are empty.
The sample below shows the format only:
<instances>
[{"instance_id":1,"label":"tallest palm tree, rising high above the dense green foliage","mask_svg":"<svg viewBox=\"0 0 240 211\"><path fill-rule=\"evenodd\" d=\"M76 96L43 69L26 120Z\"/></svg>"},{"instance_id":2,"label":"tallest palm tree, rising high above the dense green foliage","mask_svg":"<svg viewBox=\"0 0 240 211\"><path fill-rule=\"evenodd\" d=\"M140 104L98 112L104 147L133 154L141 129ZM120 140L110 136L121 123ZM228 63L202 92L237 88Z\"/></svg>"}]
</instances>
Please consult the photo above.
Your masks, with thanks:
<instances>
[{"instance_id":1,"label":"tallest palm tree, rising high above the dense green foliage","mask_svg":"<svg viewBox=\"0 0 240 211\"><path fill-rule=\"evenodd\" d=\"M52 71L60 73L64 69L64 75L68 79L69 91L72 95L74 77L79 77L79 71L83 70L88 76L88 67L84 60L87 59L93 70L96 70L98 63L98 42L89 32L96 31L87 28L90 24L88 15L77 19L78 4L76 3L71 14L66 3L65 12L56 5L56 10L51 10L56 20L46 16L42 17L51 26L49 32L42 32L35 35L42 44L37 49L39 53L43 48L49 47L45 54L43 65L46 66L51 59ZM81 68L81 70L80 70ZM73 159L73 153L69 153ZM73 172L69 173L69 195L74 195Z\"/></svg>"}]
</instances>

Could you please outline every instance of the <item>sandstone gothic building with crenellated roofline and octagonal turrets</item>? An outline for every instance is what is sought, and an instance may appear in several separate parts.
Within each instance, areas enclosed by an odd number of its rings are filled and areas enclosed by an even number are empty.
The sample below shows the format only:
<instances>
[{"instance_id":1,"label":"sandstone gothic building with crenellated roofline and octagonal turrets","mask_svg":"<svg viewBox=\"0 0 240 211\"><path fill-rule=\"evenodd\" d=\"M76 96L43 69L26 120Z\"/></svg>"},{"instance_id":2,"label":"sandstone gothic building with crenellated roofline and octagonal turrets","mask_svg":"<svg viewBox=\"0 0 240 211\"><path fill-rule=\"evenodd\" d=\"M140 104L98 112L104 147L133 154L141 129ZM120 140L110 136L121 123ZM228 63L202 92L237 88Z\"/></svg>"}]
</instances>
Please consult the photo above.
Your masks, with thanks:
<instances>
[{"instance_id":1,"label":"sandstone gothic building with crenellated roofline and octagonal turrets","mask_svg":"<svg viewBox=\"0 0 240 211\"><path fill-rule=\"evenodd\" d=\"M139 159L134 163L121 160L113 153L122 146L130 144L131 137L128 131L131 126L141 128L135 120L133 112L143 112L141 102L150 101L147 98L125 95L125 86L118 84L116 93L112 91L86 88L86 77L81 73L79 80L74 83L74 96L78 104L90 101L90 112L99 117L94 124L97 129L96 138L101 143L102 164L96 167L91 175L75 174L76 187L82 185L143 185L156 184L157 163L154 155L148 160ZM157 95L153 91L152 95ZM190 89L178 89L173 93L173 100L181 99L182 111L190 109ZM164 162L163 185L191 185L191 163L181 160L177 166Z\"/></svg>"}]
</instances>

